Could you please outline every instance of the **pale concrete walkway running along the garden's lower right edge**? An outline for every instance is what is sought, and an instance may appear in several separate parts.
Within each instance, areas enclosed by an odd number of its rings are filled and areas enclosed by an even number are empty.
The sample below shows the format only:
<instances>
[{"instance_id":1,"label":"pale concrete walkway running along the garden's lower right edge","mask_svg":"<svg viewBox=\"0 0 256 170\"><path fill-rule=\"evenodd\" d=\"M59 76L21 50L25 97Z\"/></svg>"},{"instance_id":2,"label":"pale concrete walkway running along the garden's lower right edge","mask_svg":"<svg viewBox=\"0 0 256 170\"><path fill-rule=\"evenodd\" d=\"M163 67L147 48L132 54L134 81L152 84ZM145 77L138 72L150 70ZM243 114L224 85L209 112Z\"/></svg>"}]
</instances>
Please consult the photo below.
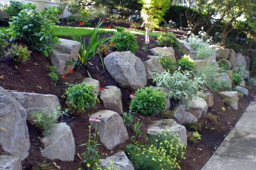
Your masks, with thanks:
<instances>
[{"instance_id":1,"label":"pale concrete walkway running along the garden's lower right edge","mask_svg":"<svg viewBox=\"0 0 256 170\"><path fill-rule=\"evenodd\" d=\"M256 98L202 170L256 170Z\"/></svg>"}]
</instances>

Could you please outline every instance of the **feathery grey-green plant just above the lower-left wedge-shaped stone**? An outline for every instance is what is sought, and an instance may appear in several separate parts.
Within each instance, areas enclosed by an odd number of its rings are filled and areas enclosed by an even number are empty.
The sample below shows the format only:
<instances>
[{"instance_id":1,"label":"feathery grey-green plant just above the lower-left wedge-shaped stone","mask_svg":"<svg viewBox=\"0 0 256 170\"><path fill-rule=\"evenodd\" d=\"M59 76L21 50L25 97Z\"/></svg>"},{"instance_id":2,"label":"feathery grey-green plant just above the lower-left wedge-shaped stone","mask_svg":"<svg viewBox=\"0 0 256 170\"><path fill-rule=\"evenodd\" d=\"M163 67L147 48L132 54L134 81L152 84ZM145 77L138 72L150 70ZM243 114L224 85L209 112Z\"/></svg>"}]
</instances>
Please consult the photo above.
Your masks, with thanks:
<instances>
[{"instance_id":1,"label":"feathery grey-green plant just above the lower-left wedge-shaped stone","mask_svg":"<svg viewBox=\"0 0 256 170\"><path fill-rule=\"evenodd\" d=\"M35 111L32 115L32 121L33 124L37 128L40 128L43 130L43 133L47 134L51 128L53 128L57 121L57 118L59 115L63 116L66 115L66 113L69 110L61 111L61 107L58 106L56 110L53 113L48 113L47 110L41 110L41 111Z\"/></svg>"}]
</instances>

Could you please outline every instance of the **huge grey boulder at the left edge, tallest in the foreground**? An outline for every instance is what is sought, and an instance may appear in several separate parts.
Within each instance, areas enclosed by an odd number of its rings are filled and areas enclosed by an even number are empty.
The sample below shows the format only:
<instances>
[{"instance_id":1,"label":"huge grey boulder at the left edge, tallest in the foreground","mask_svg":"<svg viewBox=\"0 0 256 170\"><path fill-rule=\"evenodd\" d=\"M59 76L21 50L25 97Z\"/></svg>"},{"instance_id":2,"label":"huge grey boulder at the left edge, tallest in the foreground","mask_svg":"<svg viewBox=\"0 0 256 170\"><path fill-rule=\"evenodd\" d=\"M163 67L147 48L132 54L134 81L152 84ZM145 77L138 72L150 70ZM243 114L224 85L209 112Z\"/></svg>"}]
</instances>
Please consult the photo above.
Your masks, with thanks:
<instances>
[{"instance_id":1,"label":"huge grey boulder at the left edge, tallest in the foreground","mask_svg":"<svg viewBox=\"0 0 256 170\"><path fill-rule=\"evenodd\" d=\"M30 141L27 131L27 112L5 89L0 87L0 123L9 133L0 135L2 149L23 161L29 155Z\"/></svg>"}]
</instances>

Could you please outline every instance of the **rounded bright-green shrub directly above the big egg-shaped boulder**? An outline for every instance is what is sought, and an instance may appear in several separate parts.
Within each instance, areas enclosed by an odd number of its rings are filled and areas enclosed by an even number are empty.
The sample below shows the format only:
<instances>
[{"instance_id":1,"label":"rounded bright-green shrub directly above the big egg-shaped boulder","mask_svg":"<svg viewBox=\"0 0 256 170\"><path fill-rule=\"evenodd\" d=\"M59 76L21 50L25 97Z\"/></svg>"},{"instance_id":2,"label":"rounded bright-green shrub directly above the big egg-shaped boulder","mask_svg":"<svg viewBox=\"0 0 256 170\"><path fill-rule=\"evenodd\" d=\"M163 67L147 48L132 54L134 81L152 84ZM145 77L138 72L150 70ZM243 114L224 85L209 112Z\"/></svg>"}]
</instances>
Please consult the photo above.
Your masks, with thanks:
<instances>
[{"instance_id":1,"label":"rounded bright-green shrub directly above the big egg-shaped boulder","mask_svg":"<svg viewBox=\"0 0 256 170\"><path fill-rule=\"evenodd\" d=\"M110 42L114 44L114 48L117 51L136 53L138 50L138 42L135 35L127 30L114 33Z\"/></svg>"}]
</instances>

